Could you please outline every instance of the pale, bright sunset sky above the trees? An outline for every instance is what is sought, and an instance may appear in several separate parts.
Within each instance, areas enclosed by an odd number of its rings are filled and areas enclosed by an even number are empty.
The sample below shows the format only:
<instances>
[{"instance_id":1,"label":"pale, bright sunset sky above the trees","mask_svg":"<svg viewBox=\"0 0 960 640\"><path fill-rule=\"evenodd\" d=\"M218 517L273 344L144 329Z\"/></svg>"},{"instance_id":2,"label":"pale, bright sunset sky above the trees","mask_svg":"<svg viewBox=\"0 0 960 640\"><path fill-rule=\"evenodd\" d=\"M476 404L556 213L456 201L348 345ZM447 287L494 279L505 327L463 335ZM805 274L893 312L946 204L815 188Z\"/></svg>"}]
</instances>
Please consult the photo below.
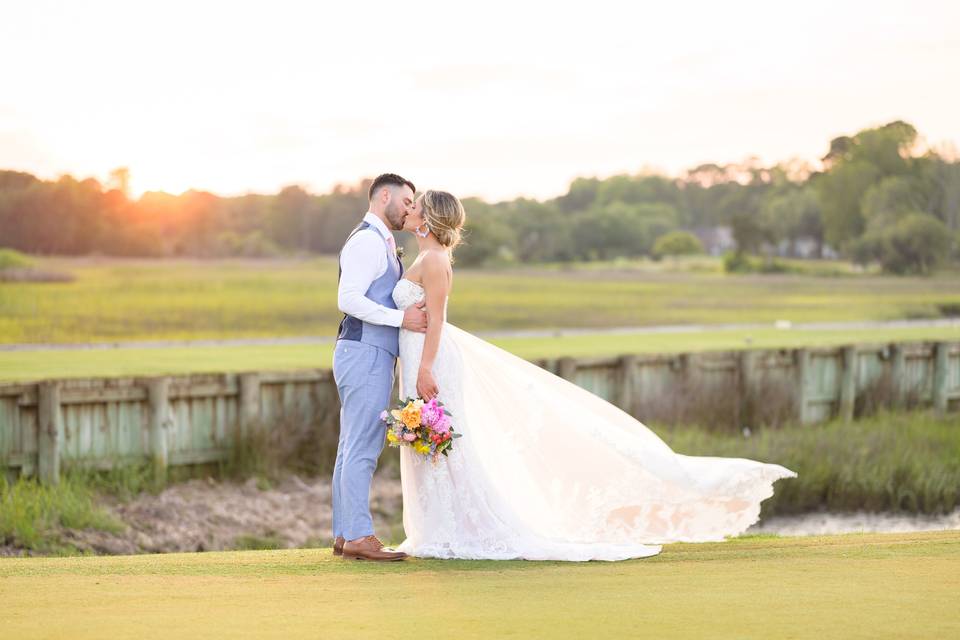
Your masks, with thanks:
<instances>
[{"instance_id":1,"label":"pale, bright sunset sky above the trees","mask_svg":"<svg viewBox=\"0 0 960 640\"><path fill-rule=\"evenodd\" d=\"M903 119L960 143L960 4L10 2L0 168L133 195L396 172L488 200L816 161Z\"/></svg>"}]
</instances>

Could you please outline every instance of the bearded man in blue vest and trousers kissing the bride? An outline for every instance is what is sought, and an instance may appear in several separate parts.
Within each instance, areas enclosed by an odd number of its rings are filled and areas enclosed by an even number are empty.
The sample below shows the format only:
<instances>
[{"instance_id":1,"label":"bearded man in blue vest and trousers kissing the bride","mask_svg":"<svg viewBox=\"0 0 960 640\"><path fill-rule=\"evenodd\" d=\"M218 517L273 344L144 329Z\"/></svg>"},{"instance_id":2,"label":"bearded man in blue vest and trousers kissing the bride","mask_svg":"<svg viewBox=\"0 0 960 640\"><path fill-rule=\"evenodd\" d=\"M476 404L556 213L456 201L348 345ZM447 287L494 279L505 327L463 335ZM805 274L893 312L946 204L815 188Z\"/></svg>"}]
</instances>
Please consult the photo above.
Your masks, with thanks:
<instances>
[{"instance_id":1,"label":"bearded man in blue vest and trousers kissing the bride","mask_svg":"<svg viewBox=\"0 0 960 640\"><path fill-rule=\"evenodd\" d=\"M402 560L373 535L370 482L383 451L380 412L390 404L399 353L399 327L425 332L423 305L406 311L393 302L403 275L391 230L403 228L413 206L413 183L392 173L370 185L370 210L340 251L337 306L344 313L333 352L340 394L340 441L333 467L333 553L345 558Z\"/></svg>"}]
</instances>

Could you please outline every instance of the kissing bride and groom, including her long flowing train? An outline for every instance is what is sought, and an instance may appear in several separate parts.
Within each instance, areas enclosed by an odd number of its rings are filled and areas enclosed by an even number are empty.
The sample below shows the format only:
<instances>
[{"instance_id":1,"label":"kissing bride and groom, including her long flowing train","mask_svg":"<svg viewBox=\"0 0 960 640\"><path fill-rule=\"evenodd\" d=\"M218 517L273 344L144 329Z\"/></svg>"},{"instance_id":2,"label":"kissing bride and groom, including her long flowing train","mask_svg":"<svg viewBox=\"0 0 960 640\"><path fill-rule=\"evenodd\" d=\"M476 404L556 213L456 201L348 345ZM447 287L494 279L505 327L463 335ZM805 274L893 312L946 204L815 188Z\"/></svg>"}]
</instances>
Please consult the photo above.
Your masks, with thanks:
<instances>
[{"instance_id":1,"label":"kissing bride and groom, including her long flowing train","mask_svg":"<svg viewBox=\"0 0 960 640\"><path fill-rule=\"evenodd\" d=\"M463 205L445 191L417 194L391 173L368 195L340 252L334 554L641 558L665 543L742 533L773 483L796 477L777 464L674 453L614 405L448 323ZM406 269L394 231L417 240ZM401 397L437 398L462 437L439 462L400 448L406 540L394 550L374 535L369 497L398 357Z\"/></svg>"}]
</instances>

